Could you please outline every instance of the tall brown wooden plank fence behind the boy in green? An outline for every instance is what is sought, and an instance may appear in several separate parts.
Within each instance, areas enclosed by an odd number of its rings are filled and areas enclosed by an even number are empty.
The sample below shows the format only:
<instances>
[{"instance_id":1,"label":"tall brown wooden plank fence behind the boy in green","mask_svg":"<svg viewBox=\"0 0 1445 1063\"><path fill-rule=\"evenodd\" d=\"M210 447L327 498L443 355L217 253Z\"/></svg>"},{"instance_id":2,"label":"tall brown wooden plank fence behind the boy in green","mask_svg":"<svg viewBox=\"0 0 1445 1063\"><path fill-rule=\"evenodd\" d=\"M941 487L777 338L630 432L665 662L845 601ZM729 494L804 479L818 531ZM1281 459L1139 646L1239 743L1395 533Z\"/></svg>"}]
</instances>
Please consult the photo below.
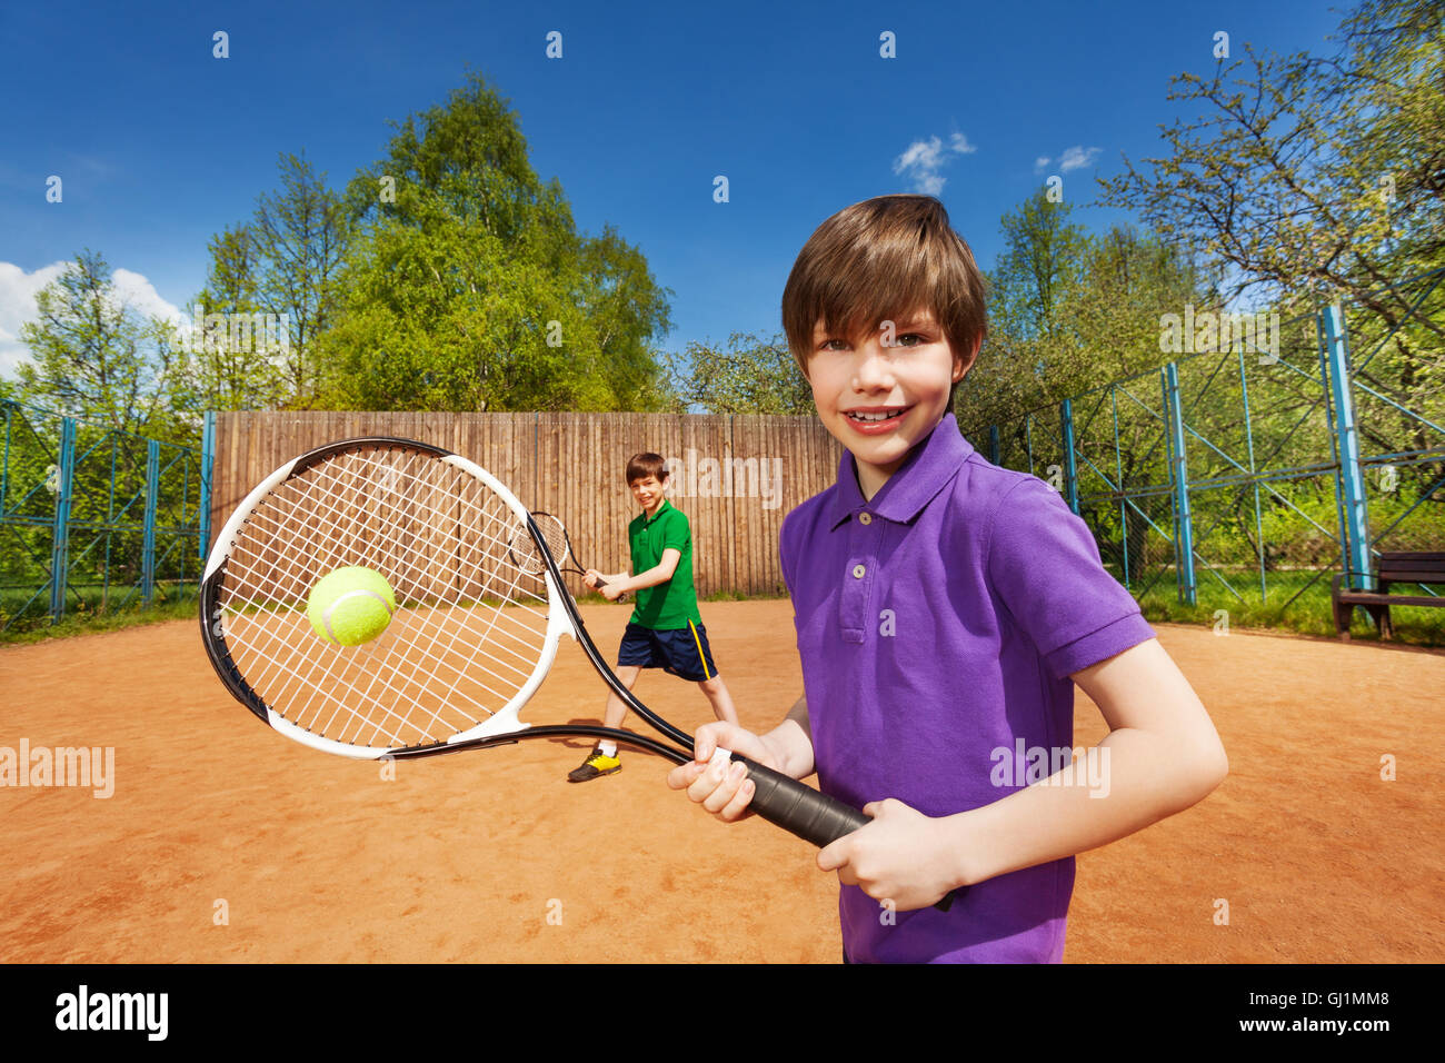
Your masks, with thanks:
<instances>
[{"instance_id":1,"label":"tall brown wooden plank fence behind the boy in green","mask_svg":"<svg viewBox=\"0 0 1445 1063\"><path fill-rule=\"evenodd\" d=\"M627 522L639 511L623 482L627 458L656 451L672 469L669 499L692 522L699 596L782 593L783 516L834 483L841 454L812 417L223 412L211 535L283 461L357 435L419 440L471 458L529 509L562 518L581 565L603 571L630 563Z\"/></svg>"}]
</instances>

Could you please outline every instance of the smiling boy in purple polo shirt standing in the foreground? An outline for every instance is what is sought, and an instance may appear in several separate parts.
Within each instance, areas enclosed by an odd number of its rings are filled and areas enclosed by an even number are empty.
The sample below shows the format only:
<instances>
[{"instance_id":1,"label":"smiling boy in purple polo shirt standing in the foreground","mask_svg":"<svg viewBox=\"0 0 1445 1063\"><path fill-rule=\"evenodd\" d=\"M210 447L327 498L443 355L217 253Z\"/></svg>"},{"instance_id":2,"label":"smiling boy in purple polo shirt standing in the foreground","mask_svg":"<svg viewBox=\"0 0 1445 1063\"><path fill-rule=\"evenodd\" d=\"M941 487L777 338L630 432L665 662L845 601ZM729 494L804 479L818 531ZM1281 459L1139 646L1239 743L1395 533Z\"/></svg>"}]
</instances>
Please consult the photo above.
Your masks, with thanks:
<instances>
[{"instance_id":1,"label":"smiling boy in purple polo shirt standing in the foreground","mask_svg":"<svg viewBox=\"0 0 1445 1063\"><path fill-rule=\"evenodd\" d=\"M818 853L853 962L1058 962L1074 853L1202 800L1220 738L1084 522L959 435L984 279L938 200L828 218L783 327L845 450L779 542L803 697L766 735L701 727L668 784L741 819L753 784L708 764L724 748L868 813ZM1110 735L1071 758L1075 683Z\"/></svg>"}]
</instances>

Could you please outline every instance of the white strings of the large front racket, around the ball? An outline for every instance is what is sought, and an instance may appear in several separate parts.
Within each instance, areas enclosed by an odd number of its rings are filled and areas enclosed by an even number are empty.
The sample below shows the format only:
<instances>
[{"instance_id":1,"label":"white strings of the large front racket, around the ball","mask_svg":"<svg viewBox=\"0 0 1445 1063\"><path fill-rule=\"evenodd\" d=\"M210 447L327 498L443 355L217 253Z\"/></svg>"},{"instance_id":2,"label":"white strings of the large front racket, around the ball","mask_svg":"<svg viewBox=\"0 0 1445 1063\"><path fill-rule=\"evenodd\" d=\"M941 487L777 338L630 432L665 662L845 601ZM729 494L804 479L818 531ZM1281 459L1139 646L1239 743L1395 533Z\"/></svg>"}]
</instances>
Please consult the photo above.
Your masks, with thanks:
<instances>
[{"instance_id":1,"label":"white strings of the large front racket, around the ball","mask_svg":"<svg viewBox=\"0 0 1445 1063\"><path fill-rule=\"evenodd\" d=\"M513 511L431 454L348 451L292 477L247 518L221 594L233 661L280 716L340 742L441 740L501 710L536 671L545 584L509 555ZM530 538L530 537L529 537ZM305 616L315 581L380 571L392 628L338 648Z\"/></svg>"}]
</instances>

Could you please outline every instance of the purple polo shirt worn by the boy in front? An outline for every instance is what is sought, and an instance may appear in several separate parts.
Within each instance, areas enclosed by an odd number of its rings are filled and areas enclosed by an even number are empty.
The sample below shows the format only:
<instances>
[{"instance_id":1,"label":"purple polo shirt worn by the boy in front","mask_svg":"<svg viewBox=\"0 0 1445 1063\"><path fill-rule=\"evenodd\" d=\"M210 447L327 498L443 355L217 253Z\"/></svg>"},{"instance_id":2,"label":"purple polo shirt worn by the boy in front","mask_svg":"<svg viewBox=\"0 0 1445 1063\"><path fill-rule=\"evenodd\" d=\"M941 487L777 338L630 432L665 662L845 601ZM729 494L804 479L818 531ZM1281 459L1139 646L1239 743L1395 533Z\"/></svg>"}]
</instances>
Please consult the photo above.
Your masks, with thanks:
<instances>
[{"instance_id":1,"label":"purple polo shirt worn by the boy in front","mask_svg":"<svg viewBox=\"0 0 1445 1063\"><path fill-rule=\"evenodd\" d=\"M1059 493L985 461L952 414L871 502L844 453L779 551L818 784L855 807L949 816L1007 797L1029 782L1020 742L1072 748L1069 675L1155 636ZM1072 856L972 885L946 913L886 913L842 887L842 943L864 963L1056 963L1072 889Z\"/></svg>"}]
</instances>

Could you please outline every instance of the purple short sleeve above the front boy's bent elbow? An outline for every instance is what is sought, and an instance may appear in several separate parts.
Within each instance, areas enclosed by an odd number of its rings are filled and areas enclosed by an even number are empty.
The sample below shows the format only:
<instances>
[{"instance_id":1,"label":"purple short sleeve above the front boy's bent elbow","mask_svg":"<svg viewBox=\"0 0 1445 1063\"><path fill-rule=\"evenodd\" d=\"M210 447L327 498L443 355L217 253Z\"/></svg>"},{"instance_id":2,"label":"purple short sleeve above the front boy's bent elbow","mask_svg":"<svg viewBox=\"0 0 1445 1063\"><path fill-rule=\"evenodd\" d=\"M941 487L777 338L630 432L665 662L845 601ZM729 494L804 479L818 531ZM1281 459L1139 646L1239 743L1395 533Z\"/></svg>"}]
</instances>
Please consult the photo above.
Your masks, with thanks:
<instances>
[{"instance_id":1,"label":"purple short sleeve above the front boy's bent elbow","mask_svg":"<svg viewBox=\"0 0 1445 1063\"><path fill-rule=\"evenodd\" d=\"M1108 574L1088 525L1036 477L1004 492L988 539L988 583L1064 678L1155 636Z\"/></svg>"}]
</instances>

